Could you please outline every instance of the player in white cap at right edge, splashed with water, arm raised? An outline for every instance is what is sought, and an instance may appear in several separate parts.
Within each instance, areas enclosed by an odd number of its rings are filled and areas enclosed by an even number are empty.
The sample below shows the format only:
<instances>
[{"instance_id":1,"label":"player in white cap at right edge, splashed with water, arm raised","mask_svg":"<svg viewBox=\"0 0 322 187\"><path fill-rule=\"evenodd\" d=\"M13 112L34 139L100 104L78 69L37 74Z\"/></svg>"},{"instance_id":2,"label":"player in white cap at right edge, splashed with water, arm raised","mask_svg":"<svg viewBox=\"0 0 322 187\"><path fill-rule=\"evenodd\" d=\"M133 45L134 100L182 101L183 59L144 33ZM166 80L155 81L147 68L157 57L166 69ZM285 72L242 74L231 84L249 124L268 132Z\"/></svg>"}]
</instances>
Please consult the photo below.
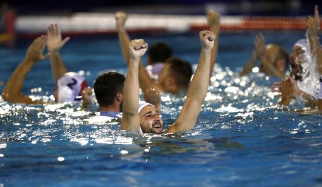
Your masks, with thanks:
<instances>
[{"instance_id":1,"label":"player in white cap at right edge, splashed with water, arm raised","mask_svg":"<svg viewBox=\"0 0 322 187\"><path fill-rule=\"evenodd\" d=\"M317 88L313 85L307 86L316 79L316 74L322 73L322 49L318 38L320 16L317 5L314 12L314 18L309 17L306 20L307 39L301 39L293 46L290 55L291 76L272 86L273 91L281 92L279 104L288 105L293 99L302 98L306 106L315 107L318 104L322 109L322 79L318 81ZM316 66L318 71L314 68Z\"/></svg>"}]
</instances>

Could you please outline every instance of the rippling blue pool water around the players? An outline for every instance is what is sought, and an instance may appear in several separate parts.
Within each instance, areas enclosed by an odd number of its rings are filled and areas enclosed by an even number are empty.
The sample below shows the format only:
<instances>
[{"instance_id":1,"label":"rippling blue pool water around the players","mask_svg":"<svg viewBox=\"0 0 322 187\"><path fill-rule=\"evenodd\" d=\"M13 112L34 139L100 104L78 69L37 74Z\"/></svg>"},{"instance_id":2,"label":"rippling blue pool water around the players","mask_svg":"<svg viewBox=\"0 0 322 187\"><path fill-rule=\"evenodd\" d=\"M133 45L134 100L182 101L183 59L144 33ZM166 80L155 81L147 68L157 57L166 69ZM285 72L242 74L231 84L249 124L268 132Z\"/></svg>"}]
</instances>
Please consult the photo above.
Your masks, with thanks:
<instances>
[{"instance_id":1,"label":"rippling blue pool water around the players","mask_svg":"<svg viewBox=\"0 0 322 187\"><path fill-rule=\"evenodd\" d=\"M263 33L289 51L303 31ZM0 100L0 187L12 186L322 186L322 118L276 105L262 74L238 78L251 55L255 32L222 33L218 64L196 128L178 134L131 135L118 122L88 117L97 105L8 104ZM132 35L168 42L175 56L198 61L198 33ZM6 82L31 41L0 47ZM72 38L61 50L70 71L84 71L93 86L102 71L126 73L116 36ZM23 93L49 99L55 83L48 61L27 76ZM2 91L3 85L0 86ZM162 95L167 127L184 102Z\"/></svg>"}]
</instances>

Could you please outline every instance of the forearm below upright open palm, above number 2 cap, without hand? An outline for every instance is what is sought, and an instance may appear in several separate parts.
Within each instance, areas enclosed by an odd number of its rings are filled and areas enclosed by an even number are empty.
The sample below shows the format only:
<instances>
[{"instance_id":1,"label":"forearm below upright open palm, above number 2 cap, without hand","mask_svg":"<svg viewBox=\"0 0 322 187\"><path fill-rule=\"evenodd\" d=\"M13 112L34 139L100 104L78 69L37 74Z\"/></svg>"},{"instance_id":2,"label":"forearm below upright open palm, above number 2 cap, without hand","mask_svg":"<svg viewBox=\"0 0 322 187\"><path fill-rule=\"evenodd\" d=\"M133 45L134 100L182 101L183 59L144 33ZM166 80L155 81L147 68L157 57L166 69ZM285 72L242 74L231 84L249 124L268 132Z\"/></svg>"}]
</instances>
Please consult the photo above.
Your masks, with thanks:
<instances>
[{"instance_id":1,"label":"forearm below upright open palm, above number 2 cap, without hand","mask_svg":"<svg viewBox=\"0 0 322 187\"><path fill-rule=\"evenodd\" d=\"M62 77L65 73L68 72L65 64L62 62L60 52L51 52L50 55L50 65L53 73L55 83Z\"/></svg>"}]
</instances>

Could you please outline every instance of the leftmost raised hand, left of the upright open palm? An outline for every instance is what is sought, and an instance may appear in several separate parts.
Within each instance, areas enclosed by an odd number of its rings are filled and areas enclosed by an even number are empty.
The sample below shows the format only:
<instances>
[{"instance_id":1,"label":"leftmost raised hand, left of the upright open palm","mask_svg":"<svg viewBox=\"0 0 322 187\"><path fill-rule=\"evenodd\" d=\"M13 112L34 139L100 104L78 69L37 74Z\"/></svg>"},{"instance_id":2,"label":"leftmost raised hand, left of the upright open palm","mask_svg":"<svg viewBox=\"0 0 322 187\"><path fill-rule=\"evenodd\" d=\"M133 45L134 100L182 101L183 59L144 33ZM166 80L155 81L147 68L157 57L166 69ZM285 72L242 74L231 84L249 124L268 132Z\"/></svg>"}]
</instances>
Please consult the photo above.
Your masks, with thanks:
<instances>
[{"instance_id":1,"label":"leftmost raised hand, left of the upright open palm","mask_svg":"<svg viewBox=\"0 0 322 187\"><path fill-rule=\"evenodd\" d=\"M47 53L46 55L42 55L43 50L45 49L45 46L46 46L46 40L47 40L47 37L44 35L41 35L29 45L26 53L26 58L29 61L36 63L39 61L44 61L49 57L50 55L49 53Z\"/></svg>"}]
</instances>

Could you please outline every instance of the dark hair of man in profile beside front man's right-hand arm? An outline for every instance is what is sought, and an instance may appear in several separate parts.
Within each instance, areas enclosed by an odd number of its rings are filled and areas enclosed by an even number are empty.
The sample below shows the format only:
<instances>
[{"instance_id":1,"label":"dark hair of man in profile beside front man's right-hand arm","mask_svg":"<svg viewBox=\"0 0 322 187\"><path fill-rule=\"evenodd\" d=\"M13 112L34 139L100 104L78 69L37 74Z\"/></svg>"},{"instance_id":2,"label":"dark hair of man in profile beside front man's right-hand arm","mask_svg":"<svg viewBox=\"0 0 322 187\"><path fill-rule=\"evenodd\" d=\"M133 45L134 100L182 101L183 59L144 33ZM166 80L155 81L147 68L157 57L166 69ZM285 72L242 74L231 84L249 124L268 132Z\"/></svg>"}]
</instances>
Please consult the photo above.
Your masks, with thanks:
<instances>
[{"instance_id":1,"label":"dark hair of man in profile beside front man's right-hand arm","mask_svg":"<svg viewBox=\"0 0 322 187\"><path fill-rule=\"evenodd\" d=\"M170 64L170 75L175 78L177 86L188 87L192 76L190 63L176 57L169 58L165 63Z\"/></svg>"}]
</instances>

